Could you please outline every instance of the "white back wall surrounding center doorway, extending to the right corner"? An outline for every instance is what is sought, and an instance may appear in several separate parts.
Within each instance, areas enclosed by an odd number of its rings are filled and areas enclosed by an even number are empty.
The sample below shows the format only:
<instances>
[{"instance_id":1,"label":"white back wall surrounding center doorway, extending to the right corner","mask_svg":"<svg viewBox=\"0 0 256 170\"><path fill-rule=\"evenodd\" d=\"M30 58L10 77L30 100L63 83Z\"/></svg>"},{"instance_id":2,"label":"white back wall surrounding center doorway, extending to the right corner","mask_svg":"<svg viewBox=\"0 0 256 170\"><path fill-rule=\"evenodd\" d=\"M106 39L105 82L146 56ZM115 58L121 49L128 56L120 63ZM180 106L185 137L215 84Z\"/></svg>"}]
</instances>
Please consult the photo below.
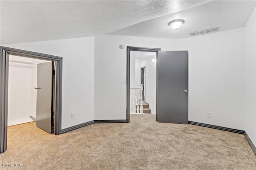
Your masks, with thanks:
<instances>
[{"instance_id":1,"label":"white back wall surrounding center doorway, extending to the right corner","mask_svg":"<svg viewBox=\"0 0 256 170\"><path fill-rule=\"evenodd\" d=\"M244 129L244 28L180 40L95 37L94 100L102 106L94 107L95 119L126 119L126 49L119 49L120 44L188 50L189 120ZM119 98L115 109L110 96Z\"/></svg>"}]
</instances>

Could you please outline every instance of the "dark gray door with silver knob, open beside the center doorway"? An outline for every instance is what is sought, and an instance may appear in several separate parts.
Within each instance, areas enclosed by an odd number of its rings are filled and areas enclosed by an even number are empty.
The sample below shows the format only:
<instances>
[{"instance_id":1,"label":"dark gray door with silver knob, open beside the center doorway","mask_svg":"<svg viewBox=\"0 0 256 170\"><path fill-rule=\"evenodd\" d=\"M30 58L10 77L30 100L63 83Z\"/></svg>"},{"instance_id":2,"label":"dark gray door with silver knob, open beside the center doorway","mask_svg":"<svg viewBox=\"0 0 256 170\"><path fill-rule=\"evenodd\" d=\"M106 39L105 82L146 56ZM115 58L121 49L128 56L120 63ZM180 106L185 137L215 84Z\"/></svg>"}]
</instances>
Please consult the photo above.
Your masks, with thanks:
<instances>
[{"instance_id":1,"label":"dark gray door with silver knob, open beside the center doorway","mask_svg":"<svg viewBox=\"0 0 256 170\"><path fill-rule=\"evenodd\" d=\"M158 122L188 123L188 51L158 51Z\"/></svg>"}]
</instances>

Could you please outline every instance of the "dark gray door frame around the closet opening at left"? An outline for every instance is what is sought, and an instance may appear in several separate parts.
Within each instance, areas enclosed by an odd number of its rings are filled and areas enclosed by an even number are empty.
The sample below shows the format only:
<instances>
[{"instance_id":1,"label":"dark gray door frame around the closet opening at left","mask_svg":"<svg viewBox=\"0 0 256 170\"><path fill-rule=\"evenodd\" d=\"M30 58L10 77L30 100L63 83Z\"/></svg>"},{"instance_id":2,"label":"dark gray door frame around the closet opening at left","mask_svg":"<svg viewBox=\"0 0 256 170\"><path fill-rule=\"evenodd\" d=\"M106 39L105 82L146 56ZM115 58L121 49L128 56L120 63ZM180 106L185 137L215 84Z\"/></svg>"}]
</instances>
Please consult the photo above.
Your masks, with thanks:
<instances>
[{"instance_id":1,"label":"dark gray door frame around the closet opening at left","mask_svg":"<svg viewBox=\"0 0 256 170\"><path fill-rule=\"evenodd\" d=\"M56 63L54 135L61 134L62 57L0 46L0 153L7 149L9 55L54 61Z\"/></svg>"}]
</instances>

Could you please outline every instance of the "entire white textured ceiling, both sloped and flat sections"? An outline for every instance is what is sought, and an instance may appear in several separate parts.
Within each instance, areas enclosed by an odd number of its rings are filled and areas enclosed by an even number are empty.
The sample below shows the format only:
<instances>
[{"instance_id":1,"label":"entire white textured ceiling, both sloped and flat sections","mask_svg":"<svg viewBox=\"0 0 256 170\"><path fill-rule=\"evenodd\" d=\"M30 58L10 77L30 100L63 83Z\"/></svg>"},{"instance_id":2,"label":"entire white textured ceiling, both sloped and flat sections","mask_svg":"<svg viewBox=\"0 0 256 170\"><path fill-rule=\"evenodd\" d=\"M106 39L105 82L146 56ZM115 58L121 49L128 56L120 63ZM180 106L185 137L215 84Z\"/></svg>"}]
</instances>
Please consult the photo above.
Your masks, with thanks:
<instances>
[{"instance_id":1,"label":"entire white textured ceiling, both sloped and flat sections","mask_svg":"<svg viewBox=\"0 0 256 170\"><path fill-rule=\"evenodd\" d=\"M208 29L212 25L220 26L220 30L242 27L254 6L255 1L0 0L0 43L49 41L108 33L178 39L188 36L190 30ZM175 32L167 24L176 18L184 19L185 23Z\"/></svg>"}]
</instances>

